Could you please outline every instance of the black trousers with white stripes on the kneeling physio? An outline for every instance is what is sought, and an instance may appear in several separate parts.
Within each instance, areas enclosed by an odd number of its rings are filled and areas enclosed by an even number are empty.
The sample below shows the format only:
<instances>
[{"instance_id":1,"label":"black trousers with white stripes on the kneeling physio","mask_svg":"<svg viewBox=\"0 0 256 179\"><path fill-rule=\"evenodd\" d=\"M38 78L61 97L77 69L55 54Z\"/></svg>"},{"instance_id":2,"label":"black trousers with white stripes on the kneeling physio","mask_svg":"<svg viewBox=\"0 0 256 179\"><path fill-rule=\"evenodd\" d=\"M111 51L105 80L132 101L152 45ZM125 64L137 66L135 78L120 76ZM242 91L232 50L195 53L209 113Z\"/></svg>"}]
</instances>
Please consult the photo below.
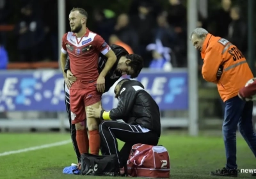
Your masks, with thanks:
<instances>
[{"instance_id":1,"label":"black trousers with white stripes on the kneeling physio","mask_svg":"<svg viewBox=\"0 0 256 179\"><path fill-rule=\"evenodd\" d=\"M139 125L129 125L119 121L103 121L99 132L102 155L116 154L120 167L124 167L127 163L132 145L137 143L157 145L159 141L155 132L147 131ZM116 139L125 143L120 152Z\"/></svg>"}]
</instances>

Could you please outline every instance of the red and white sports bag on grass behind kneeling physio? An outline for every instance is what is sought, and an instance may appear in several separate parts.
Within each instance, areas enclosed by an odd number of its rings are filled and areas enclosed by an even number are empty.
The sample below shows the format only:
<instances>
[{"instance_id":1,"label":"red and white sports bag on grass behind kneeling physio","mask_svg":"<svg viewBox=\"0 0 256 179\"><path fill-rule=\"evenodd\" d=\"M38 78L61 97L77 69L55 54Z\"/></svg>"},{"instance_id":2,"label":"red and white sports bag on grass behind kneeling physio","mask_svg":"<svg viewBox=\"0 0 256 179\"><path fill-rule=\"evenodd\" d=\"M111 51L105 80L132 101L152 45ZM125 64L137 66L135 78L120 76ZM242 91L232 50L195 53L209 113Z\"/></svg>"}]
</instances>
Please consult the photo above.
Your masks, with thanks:
<instances>
[{"instance_id":1,"label":"red and white sports bag on grass behind kneeling physio","mask_svg":"<svg viewBox=\"0 0 256 179\"><path fill-rule=\"evenodd\" d=\"M170 178L169 154L164 146L134 144L127 160L129 176Z\"/></svg>"}]
</instances>

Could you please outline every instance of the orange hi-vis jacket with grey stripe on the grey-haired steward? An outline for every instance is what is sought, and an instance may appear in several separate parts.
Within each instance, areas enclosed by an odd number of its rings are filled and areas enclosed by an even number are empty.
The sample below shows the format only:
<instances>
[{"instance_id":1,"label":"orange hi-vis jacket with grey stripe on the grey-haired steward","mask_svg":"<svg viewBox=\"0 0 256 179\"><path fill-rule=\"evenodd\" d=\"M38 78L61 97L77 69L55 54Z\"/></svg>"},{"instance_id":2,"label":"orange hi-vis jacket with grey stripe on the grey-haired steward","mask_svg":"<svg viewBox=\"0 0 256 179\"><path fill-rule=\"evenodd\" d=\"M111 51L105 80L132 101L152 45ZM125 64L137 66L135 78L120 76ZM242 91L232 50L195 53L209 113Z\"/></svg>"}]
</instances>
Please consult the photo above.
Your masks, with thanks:
<instances>
[{"instance_id":1,"label":"orange hi-vis jacket with grey stripe on the grey-haired steward","mask_svg":"<svg viewBox=\"0 0 256 179\"><path fill-rule=\"evenodd\" d=\"M201 56L204 59L202 75L205 81L217 84L223 102L236 97L239 89L253 78L252 71L241 51L225 38L208 34ZM223 74L218 80L216 74L220 65L223 65Z\"/></svg>"}]
</instances>

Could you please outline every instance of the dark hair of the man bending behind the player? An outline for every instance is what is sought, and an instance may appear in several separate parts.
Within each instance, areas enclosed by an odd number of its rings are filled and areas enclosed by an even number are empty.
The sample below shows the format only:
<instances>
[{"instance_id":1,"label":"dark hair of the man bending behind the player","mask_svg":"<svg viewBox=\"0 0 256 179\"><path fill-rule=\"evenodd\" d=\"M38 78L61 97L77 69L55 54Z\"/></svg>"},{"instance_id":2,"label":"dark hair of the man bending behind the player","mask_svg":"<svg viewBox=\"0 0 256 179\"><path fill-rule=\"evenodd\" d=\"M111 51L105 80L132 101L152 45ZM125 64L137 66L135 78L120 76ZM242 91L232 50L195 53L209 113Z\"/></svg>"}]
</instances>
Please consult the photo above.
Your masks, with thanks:
<instances>
[{"instance_id":1,"label":"dark hair of the man bending behind the player","mask_svg":"<svg viewBox=\"0 0 256 179\"><path fill-rule=\"evenodd\" d=\"M126 56L127 59L131 59L130 63L127 64L131 66L134 70L134 74L131 75L131 78L136 78L140 74L141 69L143 68L143 58L138 54L129 54Z\"/></svg>"}]
</instances>

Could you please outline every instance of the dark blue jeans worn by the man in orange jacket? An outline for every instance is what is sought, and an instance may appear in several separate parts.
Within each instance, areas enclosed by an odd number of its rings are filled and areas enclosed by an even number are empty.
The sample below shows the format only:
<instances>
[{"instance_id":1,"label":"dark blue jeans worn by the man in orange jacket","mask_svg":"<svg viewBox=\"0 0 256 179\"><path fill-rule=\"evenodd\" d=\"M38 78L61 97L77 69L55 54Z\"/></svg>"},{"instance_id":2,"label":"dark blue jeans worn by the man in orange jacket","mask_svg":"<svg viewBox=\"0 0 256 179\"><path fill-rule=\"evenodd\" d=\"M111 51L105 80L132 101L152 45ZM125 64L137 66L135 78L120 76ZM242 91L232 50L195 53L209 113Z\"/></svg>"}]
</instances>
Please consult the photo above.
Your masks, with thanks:
<instances>
[{"instance_id":1,"label":"dark blue jeans worn by the man in orange jacket","mask_svg":"<svg viewBox=\"0 0 256 179\"><path fill-rule=\"evenodd\" d=\"M225 143L228 169L237 168L236 164L236 130L239 132L256 157L256 134L252 125L253 102L244 102L239 97L225 102L225 119L222 132Z\"/></svg>"}]
</instances>

